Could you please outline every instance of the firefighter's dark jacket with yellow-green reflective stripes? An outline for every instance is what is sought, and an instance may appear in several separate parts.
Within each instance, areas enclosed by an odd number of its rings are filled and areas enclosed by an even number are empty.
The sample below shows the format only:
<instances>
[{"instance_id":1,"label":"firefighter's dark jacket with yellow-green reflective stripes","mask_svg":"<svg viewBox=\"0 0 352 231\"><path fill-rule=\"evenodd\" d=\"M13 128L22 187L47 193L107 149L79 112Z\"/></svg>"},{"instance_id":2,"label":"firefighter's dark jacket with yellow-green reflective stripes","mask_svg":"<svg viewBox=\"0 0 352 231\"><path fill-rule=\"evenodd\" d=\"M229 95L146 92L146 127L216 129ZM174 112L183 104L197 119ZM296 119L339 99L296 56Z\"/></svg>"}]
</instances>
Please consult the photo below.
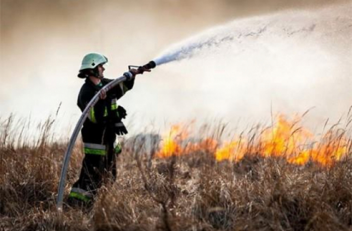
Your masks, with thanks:
<instances>
[{"instance_id":1,"label":"firefighter's dark jacket with yellow-green reflective stripes","mask_svg":"<svg viewBox=\"0 0 352 231\"><path fill-rule=\"evenodd\" d=\"M87 78L78 95L77 105L80 110L83 111L97 92L111 81L102 79L102 86L98 87ZM133 85L134 80L120 83L107 93L106 99L100 99L91 108L81 130L85 154L106 155L106 145L116 140L114 125L118 119L117 100L131 90Z\"/></svg>"}]
</instances>

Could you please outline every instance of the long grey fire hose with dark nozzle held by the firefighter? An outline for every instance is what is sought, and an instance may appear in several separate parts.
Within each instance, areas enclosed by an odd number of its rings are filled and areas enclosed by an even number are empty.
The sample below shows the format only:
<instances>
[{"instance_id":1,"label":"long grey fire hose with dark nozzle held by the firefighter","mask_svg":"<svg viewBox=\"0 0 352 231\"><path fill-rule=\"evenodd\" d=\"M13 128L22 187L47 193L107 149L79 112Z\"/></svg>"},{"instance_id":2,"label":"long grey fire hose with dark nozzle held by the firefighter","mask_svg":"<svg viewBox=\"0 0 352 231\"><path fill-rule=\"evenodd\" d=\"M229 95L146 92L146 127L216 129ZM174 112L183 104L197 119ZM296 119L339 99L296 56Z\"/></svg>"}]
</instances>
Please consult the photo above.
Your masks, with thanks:
<instances>
[{"instance_id":1,"label":"long grey fire hose with dark nozzle held by the firefighter","mask_svg":"<svg viewBox=\"0 0 352 231\"><path fill-rule=\"evenodd\" d=\"M143 65L143 66L128 66L129 69L132 67L138 67L138 69L143 70L143 69L152 69L156 66L154 61L150 61L147 64ZM143 71L141 72L143 73ZM109 84L107 84L106 86L104 86L93 98L92 100L87 104L87 106L85 107L85 109L82 112L82 115L79 117L79 120L72 132L70 141L68 143L67 146L67 150L63 159L63 163L62 163L62 168L61 168L61 174L60 174L60 180L59 180L59 185L58 185L58 191L57 191L57 201L56 201L56 206L59 210L62 209L62 203L63 203L63 193L64 193L64 189L65 189L65 180L66 180L66 174L67 174L67 168L68 168L68 164L69 164L69 160L71 157L71 153L72 153L72 149L73 146L76 142L78 133L86 119L86 117L88 116L88 113L90 112L91 108L93 108L96 103L99 101L99 95L100 93L105 90L106 92L109 92L111 89L113 89L115 86L117 86L119 83L124 82L128 80L128 76L127 75L123 75L113 81L111 81Z\"/></svg>"}]
</instances>

